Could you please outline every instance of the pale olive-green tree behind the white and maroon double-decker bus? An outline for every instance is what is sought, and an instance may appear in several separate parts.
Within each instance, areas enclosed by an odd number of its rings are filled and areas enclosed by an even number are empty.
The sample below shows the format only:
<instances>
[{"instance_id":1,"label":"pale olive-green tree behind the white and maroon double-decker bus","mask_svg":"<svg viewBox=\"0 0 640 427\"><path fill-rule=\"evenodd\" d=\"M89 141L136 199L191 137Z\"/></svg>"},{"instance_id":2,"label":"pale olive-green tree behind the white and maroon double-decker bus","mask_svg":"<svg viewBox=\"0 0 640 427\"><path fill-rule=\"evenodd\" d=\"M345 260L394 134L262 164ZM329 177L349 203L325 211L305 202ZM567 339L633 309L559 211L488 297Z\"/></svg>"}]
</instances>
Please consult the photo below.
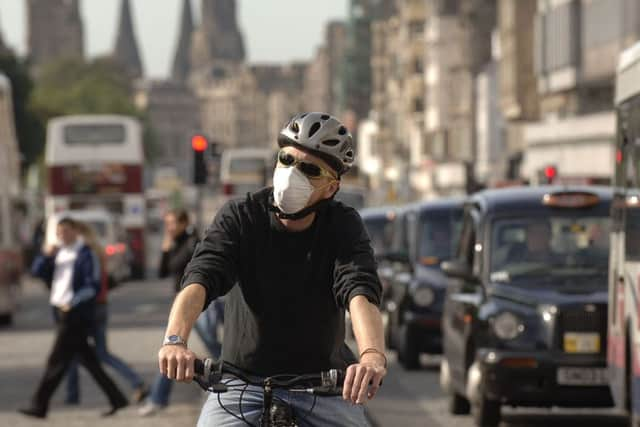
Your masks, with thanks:
<instances>
[{"instance_id":1,"label":"pale olive-green tree behind the white and maroon double-decker bus","mask_svg":"<svg viewBox=\"0 0 640 427\"><path fill-rule=\"evenodd\" d=\"M91 62L61 59L44 67L33 93L33 105L44 120L68 114L122 114L144 126L145 154L153 156L153 132L132 100L127 73L110 58Z\"/></svg>"}]
</instances>

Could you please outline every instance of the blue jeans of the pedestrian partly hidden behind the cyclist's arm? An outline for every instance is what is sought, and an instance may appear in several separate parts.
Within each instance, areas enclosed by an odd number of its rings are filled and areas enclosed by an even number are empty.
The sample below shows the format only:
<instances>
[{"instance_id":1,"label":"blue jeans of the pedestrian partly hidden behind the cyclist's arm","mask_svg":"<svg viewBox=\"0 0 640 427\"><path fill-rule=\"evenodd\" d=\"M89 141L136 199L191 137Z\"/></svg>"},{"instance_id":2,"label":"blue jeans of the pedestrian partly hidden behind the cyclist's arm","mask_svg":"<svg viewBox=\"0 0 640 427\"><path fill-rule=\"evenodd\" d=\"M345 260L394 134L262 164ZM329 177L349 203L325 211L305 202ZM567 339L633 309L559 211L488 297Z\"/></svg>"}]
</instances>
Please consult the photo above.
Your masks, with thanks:
<instances>
[{"instance_id":1,"label":"blue jeans of the pedestrian partly hidden behind the cyclist's arm","mask_svg":"<svg viewBox=\"0 0 640 427\"><path fill-rule=\"evenodd\" d=\"M204 342L210 355L214 358L220 358L222 345L216 334L216 327L219 322L224 319L224 306L222 301L215 300L209 307L198 316L195 329L202 342ZM159 406L167 406L169 404L169 396L171 395L172 381L162 374L158 374L151 386L151 394L149 400Z\"/></svg>"}]
</instances>

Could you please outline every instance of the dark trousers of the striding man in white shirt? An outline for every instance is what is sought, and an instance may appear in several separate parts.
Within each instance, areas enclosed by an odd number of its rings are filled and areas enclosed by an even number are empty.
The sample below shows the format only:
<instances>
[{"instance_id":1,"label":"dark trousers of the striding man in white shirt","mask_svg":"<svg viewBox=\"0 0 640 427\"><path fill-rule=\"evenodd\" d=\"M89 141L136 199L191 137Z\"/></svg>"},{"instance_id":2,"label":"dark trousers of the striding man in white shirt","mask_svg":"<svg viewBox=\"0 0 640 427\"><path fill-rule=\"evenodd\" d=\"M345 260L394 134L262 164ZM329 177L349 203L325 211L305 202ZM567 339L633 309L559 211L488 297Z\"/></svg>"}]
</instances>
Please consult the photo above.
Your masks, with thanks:
<instances>
[{"instance_id":1,"label":"dark trousers of the striding man in white shirt","mask_svg":"<svg viewBox=\"0 0 640 427\"><path fill-rule=\"evenodd\" d=\"M51 396L62 381L74 357L87 368L93 379L109 398L111 406L122 406L127 402L118 386L102 369L95 348L88 342L89 326L86 316L79 309L68 313L57 311L58 330L55 343L44 375L33 396L33 408L46 413Z\"/></svg>"}]
</instances>

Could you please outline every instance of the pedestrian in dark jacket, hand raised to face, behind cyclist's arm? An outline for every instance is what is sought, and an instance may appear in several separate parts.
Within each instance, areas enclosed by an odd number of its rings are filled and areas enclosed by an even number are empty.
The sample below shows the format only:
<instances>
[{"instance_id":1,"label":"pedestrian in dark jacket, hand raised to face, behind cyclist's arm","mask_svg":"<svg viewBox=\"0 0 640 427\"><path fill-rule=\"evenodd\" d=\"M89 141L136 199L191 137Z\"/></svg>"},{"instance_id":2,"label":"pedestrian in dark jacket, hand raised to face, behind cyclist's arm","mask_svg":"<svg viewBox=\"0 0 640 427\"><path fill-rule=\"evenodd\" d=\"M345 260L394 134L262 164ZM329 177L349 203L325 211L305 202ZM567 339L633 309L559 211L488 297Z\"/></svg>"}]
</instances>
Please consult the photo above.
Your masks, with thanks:
<instances>
[{"instance_id":1,"label":"pedestrian in dark jacket, hand raised to face, behind cyclist's arm","mask_svg":"<svg viewBox=\"0 0 640 427\"><path fill-rule=\"evenodd\" d=\"M198 238L189 226L189 214L184 210L174 210L164 217L164 238L162 240L162 258L160 259L159 276L173 279L174 291L180 291L180 279L185 267L191 260ZM205 345L213 354L220 355L220 344L216 339L216 321L221 314L204 312L201 314L200 330L198 331ZM140 415L153 415L167 407L171 395L172 381L162 374L158 374L151 386L149 399L140 408Z\"/></svg>"}]
</instances>

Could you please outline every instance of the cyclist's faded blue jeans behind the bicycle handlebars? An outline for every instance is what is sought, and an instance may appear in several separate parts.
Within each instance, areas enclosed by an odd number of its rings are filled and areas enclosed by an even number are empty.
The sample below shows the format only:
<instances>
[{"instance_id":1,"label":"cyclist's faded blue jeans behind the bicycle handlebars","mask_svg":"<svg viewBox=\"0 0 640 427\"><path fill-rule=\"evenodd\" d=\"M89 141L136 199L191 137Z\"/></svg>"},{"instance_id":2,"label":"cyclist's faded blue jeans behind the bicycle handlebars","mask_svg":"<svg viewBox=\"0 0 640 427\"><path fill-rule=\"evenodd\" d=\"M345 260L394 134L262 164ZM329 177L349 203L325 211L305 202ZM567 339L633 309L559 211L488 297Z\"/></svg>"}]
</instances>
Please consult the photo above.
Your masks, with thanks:
<instances>
[{"instance_id":1,"label":"cyclist's faded blue jeans behind the bicycle handlebars","mask_svg":"<svg viewBox=\"0 0 640 427\"><path fill-rule=\"evenodd\" d=\"M233 381L233 380L232 380ZM241 389L229 390L226 393L209 393L209 397L202 407L198 427L245 427L247 424L240 421L225 411L230 410L240 416ZM275 397L280 398L293 407L298 425L300 427L364 427L369 426L364 415L362 405L352 405L336 397L314 397L302 393L289 393L284 390L276 390ZM220 402L222 406L218 402ZM316 399L315 406L313 400ZM309 414L309 410L313 411ZM258 425L262 414L262 389L249 386L242 394L242 414L245 419L254 425Z\"/></svg>"}]
</instances>

